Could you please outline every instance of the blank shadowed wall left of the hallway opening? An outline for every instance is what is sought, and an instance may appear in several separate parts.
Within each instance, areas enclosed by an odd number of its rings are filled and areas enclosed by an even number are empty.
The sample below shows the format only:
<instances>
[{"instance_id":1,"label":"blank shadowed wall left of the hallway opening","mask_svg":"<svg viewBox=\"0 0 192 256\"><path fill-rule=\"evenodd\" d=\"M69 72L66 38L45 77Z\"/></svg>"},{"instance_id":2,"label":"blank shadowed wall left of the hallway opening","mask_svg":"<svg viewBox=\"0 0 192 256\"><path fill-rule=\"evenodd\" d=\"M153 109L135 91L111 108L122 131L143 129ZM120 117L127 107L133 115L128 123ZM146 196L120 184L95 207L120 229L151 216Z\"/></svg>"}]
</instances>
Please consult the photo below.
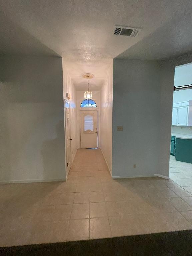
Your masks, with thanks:
<instances>
[{"instance_id":1,"label":"blank shadowed wall left of the hallway opening","mask_svg":"<svg viewBox=\"0 0 192 256\"><path fill-rule=\"evenodd\" d=\"M65 179L62 58L2 57L0 181Z\"/></svg>"}]
</instances>

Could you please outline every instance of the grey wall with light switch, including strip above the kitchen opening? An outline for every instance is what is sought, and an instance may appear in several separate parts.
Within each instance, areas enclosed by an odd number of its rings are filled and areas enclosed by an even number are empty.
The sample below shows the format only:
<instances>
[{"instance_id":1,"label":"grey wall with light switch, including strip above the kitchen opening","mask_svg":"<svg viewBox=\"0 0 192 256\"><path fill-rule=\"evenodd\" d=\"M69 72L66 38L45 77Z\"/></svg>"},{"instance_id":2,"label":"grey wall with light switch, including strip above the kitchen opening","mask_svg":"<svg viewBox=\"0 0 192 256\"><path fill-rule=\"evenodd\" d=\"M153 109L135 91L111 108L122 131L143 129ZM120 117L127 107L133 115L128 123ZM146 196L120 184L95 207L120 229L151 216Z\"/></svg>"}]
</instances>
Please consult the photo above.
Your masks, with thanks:
<instances>
[{"instance_id":1,"label":"grey wall with light switch, including strip above the kitchen opening","mask_svg":"<svg viewBox=\"0 0 192 256\"><path fill-rule=\"evenodd\" d=\"M169 176L174 72L190 62L192 52L165 61L114 59L113 177Z\"/></svg>"}]
</instances>

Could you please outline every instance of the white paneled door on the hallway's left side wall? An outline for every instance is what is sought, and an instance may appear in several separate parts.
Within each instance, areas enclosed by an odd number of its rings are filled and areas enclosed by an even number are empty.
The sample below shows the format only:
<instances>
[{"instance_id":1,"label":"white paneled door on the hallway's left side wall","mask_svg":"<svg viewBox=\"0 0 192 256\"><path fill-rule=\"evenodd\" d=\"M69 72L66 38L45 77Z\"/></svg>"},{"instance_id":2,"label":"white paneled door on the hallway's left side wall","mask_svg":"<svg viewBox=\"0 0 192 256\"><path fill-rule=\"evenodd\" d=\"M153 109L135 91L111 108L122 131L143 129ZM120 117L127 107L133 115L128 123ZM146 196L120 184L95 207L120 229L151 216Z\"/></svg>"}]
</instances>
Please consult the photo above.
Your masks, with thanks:
<instances>
[{"instance_id":1,"label":"white paneled door on the hallway's left side wall","mask_svg":"<svg viewBox=\"0 0 192 256\"><path fill-rule=\"evenodd\" d=\"M70 105L65 101L65 133L66 133L66 160L67 175L71 168L71 132L70 132Z\"/></svg>"}]
</instances>

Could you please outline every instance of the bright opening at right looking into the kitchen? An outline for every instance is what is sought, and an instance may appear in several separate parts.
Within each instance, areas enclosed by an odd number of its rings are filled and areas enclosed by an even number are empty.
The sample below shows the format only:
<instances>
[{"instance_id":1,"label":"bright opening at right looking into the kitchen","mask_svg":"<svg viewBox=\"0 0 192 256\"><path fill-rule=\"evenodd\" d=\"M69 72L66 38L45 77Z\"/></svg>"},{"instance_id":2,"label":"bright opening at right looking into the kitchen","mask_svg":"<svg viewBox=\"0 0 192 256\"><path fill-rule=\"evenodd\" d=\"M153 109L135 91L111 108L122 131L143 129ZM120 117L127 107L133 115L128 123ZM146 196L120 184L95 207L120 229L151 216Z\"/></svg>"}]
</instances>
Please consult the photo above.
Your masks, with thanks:
<instances>
[{"instance_id":1,"label":"bright opening at right looking into the kitchen","mask_svg":"<svg viewBox=\"0 0 192 256\"><path fill-rule=\"evenodd\" d=\"M186 188L192 186L191 84L192 63L175 67L169 178Z\"/></svg>"}]
</instances>

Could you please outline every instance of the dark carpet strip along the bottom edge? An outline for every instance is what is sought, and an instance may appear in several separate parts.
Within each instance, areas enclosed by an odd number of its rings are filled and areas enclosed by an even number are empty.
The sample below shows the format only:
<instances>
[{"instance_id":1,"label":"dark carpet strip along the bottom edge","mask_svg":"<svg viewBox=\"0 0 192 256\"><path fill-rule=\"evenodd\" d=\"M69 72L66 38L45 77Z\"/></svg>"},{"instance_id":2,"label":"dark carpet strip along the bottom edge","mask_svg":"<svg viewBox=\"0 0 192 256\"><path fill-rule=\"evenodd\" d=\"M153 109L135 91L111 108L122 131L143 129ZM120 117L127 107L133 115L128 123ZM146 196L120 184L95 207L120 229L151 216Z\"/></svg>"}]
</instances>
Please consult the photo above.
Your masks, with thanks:
<instances>
[{"instance_id":1,"label":"dark carpet strip along the bottom edge","mask_svg":"<svg viewBox=\"0 0 192 256\"><path fill-rule=\"evenodd\" d=\"M192 230L1 247L1 256L192 256Z\"/></svg>"}]
</instances>

